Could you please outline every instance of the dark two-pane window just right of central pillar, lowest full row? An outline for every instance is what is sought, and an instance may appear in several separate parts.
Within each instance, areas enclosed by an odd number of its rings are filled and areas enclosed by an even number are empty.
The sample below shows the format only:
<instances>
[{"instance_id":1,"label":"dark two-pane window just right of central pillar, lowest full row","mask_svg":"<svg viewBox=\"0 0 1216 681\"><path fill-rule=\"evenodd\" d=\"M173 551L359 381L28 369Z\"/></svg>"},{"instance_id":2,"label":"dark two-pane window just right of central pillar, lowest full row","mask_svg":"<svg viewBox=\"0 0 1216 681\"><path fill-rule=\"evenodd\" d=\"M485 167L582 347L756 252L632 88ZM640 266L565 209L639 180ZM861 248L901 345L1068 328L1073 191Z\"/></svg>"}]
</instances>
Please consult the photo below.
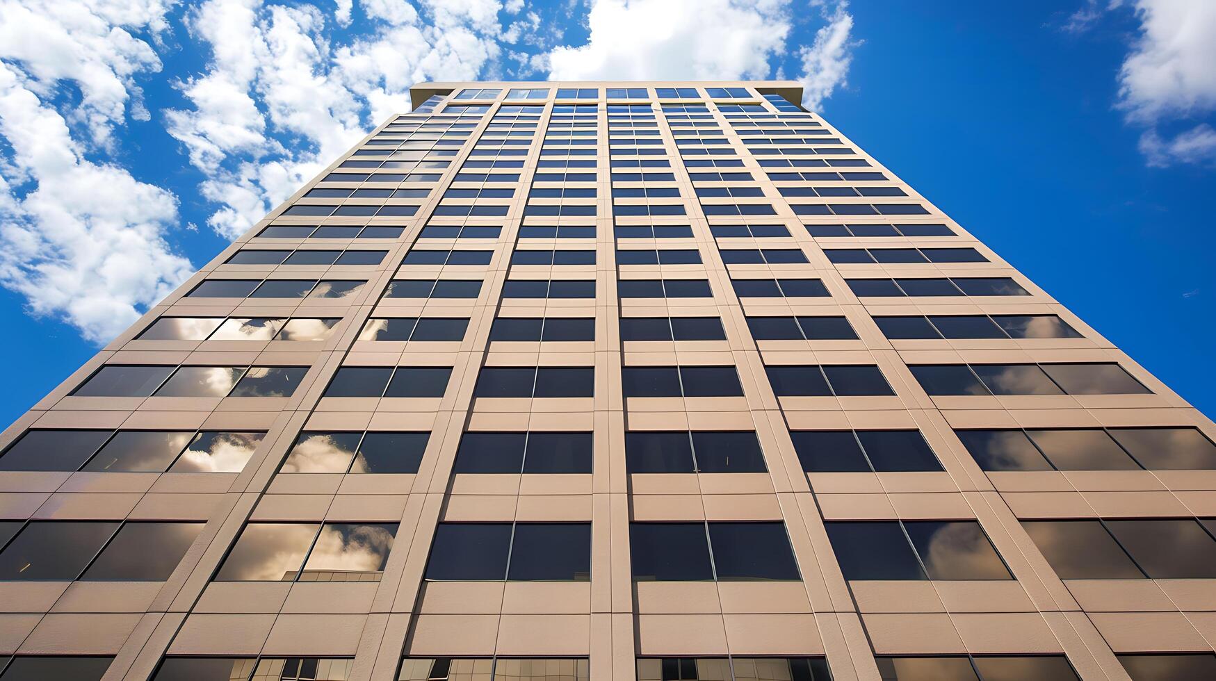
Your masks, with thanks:
<instances>
[{"instance_id":1,"label":"dark two-pane window just right of central pillar, lowest full row","mask_svg":"<svg viewBox=\"0 0 1216 681\"><path fill-rule=\"evenodd\" d=\"M629 542L637 581L800 579L779 522L630 523Z\"/></svg>"}]
</instances>

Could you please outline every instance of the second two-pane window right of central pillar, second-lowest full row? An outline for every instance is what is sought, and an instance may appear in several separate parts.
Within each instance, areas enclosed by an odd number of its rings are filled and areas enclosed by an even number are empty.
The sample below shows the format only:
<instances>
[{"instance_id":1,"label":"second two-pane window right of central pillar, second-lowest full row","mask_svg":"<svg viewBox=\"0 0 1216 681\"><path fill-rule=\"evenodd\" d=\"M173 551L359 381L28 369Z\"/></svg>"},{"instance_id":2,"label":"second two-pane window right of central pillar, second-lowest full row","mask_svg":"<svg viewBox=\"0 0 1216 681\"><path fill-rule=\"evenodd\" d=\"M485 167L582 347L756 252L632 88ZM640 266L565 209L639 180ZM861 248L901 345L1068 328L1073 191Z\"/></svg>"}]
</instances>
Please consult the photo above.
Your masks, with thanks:
<instances>
[{"instance_id":1,"label":"second two-pane window right of central pillar, second-lowest full row","mask_svg":"<svg viewBox=\"0 0 1216 681\"><path fill-rule=\"evenodd\" d=\"M790 437L811 473L942 469L919 430L793 430Z\"/></svg>"}]
</instances>

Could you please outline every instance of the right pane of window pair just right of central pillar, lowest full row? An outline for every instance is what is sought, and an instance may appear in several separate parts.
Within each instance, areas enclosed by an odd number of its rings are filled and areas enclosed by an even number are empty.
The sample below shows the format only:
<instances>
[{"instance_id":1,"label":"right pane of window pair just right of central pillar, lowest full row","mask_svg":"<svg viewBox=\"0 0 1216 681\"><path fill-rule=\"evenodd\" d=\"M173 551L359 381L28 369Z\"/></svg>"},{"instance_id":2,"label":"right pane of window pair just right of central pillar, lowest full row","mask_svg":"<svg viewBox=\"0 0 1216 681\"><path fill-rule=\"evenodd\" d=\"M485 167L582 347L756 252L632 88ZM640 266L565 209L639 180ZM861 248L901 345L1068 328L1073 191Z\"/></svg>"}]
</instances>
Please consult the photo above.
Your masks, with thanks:
<instances>
[{"instance_id":1,"label":"right pane of window pair just right of central pillar, lowest full row","mask_svg":"<svg viewBox=\"0 0 1216 681\"><path fill-rule=\"evenodd\" d=\"M709 523L709 541L720 581L799 579L782 523Z\"/></svg>"}]
</instances>

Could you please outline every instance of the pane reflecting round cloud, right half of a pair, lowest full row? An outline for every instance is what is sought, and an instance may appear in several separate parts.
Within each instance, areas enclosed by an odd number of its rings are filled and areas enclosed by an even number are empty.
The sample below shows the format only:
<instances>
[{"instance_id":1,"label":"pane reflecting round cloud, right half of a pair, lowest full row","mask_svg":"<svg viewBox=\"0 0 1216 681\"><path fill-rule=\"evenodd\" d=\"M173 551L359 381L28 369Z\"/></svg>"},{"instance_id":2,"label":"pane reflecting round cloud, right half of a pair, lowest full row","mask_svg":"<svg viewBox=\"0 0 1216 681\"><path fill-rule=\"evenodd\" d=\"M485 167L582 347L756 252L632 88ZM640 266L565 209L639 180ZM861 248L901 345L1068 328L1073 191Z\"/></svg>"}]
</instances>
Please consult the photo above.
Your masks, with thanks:
<instances>
[{"instance_id":1,"label":"pane reflecting round cloud, right half of a pair, lowest full row","mask_svg":"<svg viewBox=\"0 0 1216 681\"><path fill-rule=\"evenodd\" d=\"M929 579L1013 579L974 520L908 522L903 528Z\"/></svg>"}]
</instances>

